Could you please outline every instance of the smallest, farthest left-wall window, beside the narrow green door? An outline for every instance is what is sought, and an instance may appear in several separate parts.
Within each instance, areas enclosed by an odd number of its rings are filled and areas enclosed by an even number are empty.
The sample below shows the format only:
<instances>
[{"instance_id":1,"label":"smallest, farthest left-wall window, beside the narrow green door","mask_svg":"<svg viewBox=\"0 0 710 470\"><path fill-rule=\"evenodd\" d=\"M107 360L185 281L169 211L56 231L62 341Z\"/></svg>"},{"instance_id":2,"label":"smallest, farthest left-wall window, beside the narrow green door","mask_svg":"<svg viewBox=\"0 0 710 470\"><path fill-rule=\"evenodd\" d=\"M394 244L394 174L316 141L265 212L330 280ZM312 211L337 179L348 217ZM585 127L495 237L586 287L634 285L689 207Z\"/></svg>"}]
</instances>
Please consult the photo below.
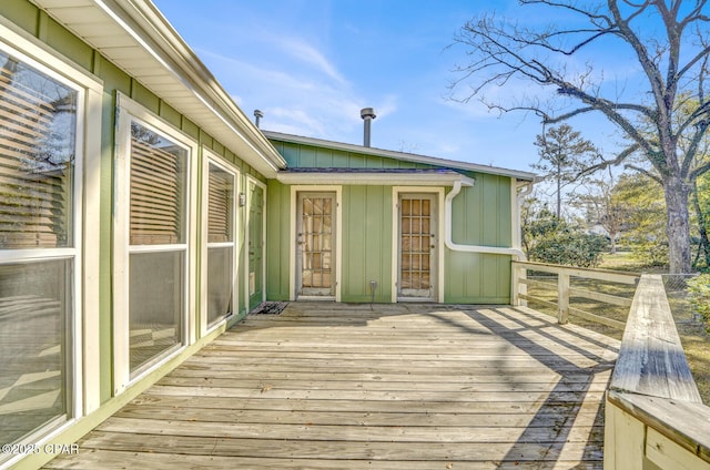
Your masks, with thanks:
<instances>
[{"instance_id":1,"label":"smallest, farthest left-wall window, beside the narrow green door","mask_svg":"<svg viewBox=\"0 0 710 470\"><path fill-rule=\"evenodd\" d=\"M207 178L207 327L234 313L236 175L209 163Z\"/></svg>"}]
</instances>

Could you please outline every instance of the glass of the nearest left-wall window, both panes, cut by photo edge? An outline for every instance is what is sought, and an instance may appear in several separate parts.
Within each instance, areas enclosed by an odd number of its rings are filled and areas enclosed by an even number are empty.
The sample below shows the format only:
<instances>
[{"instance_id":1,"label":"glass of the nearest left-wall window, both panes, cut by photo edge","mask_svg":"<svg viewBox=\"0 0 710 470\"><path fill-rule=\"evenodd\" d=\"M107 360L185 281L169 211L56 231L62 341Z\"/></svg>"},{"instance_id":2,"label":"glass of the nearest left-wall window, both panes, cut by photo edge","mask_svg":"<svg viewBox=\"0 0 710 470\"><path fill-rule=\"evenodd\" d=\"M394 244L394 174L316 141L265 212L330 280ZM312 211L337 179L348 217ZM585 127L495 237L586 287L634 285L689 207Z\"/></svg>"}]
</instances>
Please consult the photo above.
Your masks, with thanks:
<instances>
[{"instance_id":1,"label":"glass of the nearest left-wall window, both panes, cut by photo edge","mask_svg":"<svg viewBox=\"0 0 710 470\"><path fill-rule=\"evenodd\" d=\"M73 415L83 93L0 50L0 443ZM0 453L2 462L12 456Z\"/></svg>"}]
</instances>

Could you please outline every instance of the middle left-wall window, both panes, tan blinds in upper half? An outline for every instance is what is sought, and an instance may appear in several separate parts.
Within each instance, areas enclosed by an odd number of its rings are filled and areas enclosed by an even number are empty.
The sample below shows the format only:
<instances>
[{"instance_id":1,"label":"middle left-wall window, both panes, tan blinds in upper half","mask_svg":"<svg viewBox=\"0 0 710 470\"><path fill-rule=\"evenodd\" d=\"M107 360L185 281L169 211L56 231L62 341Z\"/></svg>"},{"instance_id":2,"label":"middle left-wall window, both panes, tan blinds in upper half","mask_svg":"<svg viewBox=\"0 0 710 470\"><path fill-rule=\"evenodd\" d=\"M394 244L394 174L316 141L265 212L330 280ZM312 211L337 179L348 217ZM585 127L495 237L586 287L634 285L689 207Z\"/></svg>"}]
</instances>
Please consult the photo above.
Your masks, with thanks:
<instances>
[{"instance_id":1,"label":"middle left-wall window, both panes, tan blinds in upper half","mask_svg":"<svg viewBox=\"0 0 710 470\"><path fill-rule=\"evenodd\" d=\"M189 150L131 121L129 360L131 375L183 344Z\"/></svg>"}]
</instances>

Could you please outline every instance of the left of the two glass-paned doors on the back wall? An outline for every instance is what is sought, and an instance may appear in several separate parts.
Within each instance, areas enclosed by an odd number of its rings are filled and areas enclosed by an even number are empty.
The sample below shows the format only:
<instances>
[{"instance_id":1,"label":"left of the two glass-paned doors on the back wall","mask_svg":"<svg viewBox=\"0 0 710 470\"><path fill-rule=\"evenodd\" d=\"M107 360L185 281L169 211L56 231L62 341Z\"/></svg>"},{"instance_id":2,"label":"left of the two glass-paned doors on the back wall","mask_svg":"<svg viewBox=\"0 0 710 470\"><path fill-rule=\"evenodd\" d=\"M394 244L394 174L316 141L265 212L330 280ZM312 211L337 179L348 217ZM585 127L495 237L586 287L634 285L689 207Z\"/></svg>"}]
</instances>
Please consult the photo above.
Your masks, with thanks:
<instances>
[{"instance_id":1,"label":"left of the two glass-paned doors on the back wall","mask_svg":"<svg viewBox=\"0 0 710 470\"><path fill-rule=\"evenodd\" d=\"M298 296L335 296L335 193L298 193L296 289Z\"/></svg>"}]
</instances>

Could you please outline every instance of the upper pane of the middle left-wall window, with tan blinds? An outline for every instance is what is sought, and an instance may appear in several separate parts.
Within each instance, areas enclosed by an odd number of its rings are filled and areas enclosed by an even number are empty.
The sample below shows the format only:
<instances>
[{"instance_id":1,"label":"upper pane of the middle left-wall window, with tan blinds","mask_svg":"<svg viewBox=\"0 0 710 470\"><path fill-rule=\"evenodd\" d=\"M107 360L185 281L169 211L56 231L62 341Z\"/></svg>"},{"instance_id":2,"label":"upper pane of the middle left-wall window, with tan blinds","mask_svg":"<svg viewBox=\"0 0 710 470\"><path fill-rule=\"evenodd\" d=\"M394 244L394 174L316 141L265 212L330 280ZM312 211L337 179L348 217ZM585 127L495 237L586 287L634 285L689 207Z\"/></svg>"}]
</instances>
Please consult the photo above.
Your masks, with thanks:
<instances>
[{"instance_id":1,"label":"upper pane of the middle left-wall window, with tan blinds","mask_svg":"<svg viewBox=\"0 0 710 470\"><path fill-rule=\"evenodd\" d=\"M187 151L131 123L131 245L185 242Z\"/></svg>"}]
</instances>

